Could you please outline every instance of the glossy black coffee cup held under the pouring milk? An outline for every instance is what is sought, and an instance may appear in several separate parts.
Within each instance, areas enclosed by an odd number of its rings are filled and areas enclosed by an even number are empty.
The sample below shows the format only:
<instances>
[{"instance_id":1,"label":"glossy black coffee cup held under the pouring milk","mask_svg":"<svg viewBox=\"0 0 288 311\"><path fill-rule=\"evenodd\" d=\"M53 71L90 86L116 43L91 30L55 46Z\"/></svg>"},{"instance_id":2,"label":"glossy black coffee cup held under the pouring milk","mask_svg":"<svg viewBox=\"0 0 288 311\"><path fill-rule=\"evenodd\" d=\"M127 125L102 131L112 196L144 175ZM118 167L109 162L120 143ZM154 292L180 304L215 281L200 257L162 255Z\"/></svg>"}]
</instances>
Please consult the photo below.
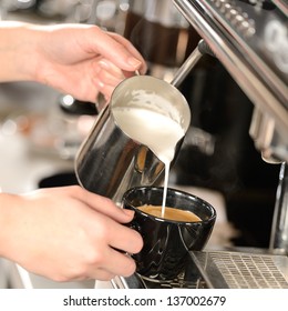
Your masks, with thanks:
<instances>
[{"instance_id":1,"label":"glossy black coffee cup held under the pouring milk","mask_svg":"<svg viewBox=\"0 0 288 311\"><path fill-rule=\"evenodd\" d=\"M191 211L200 220L174 221L151 215L140 207L162 205L163 188L138 187L125 192L123 208L135 211L128 224L144 240L140 253L133 254L136 271L154 281L172 281L184 270L188 251L202 250L207 243L216 220L215 209L205 200L191 193L168 188L166 207Z\"/></svg>"}]
</instances>

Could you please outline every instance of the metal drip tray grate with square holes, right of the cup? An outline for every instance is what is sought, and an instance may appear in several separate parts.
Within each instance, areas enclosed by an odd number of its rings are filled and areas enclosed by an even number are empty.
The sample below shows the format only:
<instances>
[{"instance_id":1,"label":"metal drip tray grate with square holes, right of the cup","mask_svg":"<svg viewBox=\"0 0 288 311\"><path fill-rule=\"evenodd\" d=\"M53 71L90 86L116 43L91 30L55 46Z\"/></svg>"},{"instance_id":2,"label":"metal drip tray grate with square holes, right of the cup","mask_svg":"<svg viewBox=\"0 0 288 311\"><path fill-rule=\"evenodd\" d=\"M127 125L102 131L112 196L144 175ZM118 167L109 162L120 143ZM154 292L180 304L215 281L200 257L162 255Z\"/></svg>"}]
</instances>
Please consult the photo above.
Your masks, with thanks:
<instances>
[{"instance_id":1,"label":"metal drip tray grate with square holes, right of the cup","mask_svg":"<svg viewBox=\"0 0 288 311\"><path fill-rule=\"evenodd\" d=\"M288 289L288 258L239 252L193 252L209 288Z\"/></svg>"}]
</instances>

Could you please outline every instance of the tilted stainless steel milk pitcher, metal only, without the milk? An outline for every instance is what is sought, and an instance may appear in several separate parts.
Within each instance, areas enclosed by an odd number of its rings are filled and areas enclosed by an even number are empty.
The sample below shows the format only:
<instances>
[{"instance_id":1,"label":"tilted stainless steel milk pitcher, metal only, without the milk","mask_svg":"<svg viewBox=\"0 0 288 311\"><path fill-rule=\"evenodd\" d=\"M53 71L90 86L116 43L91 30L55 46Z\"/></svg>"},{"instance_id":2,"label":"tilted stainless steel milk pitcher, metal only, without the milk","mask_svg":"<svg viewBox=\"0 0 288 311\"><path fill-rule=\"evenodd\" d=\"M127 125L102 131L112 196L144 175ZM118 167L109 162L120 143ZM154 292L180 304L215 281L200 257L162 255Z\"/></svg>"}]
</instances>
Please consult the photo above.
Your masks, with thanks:
<instances>
[{"instance_id":1,"label":"tilted stainless steel milk pitcher, metal only, without the milk","mask_svg":"<svg viewBox=\"0 0 288 311\"><path fill-rule=\"evenodd\" d=\"M113 116L114 109L125 108L133 101L133 97L137 97L133 104L155 109L155 102L142 101L143 90L168 102L185 132L191 122L189 107L183 94L161 79L135 76L115 88L110 104L97 117L80 148L75 159L75 173L82 187L111 198L116 203L121 202L123 193L132 187L154 185L163 181L164 163L141 141L134 141L123 132ZM168 113L173 118L173 113ZM182 141L177 143L175 154L181 144Z\"/></svg>"}]
</instances>

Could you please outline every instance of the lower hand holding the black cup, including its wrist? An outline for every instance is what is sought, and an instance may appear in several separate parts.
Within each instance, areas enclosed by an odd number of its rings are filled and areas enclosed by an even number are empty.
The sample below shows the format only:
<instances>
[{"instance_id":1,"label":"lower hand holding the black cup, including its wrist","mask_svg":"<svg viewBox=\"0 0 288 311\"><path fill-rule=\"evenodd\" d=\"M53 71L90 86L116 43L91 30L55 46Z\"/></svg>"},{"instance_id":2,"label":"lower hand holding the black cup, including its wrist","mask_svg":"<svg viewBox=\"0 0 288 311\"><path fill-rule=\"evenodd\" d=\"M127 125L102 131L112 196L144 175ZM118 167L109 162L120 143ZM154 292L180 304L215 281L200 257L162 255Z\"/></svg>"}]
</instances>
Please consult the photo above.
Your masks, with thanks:
<instances>
[{"instance_id":1,"label":"lower hand holding the black cup, including its wrist","mask_svg":"<svg viewBox=\"0 0 288 311\"><path fill-rule=\"evenodd\" d=\"M55 281L110 280L135 271L135 262L117 251L137 253L143 245L122 224L132 220L131 211L78 185L1 195L9 209L0 254L27 270Z\"/></svg>"}]
</instances>

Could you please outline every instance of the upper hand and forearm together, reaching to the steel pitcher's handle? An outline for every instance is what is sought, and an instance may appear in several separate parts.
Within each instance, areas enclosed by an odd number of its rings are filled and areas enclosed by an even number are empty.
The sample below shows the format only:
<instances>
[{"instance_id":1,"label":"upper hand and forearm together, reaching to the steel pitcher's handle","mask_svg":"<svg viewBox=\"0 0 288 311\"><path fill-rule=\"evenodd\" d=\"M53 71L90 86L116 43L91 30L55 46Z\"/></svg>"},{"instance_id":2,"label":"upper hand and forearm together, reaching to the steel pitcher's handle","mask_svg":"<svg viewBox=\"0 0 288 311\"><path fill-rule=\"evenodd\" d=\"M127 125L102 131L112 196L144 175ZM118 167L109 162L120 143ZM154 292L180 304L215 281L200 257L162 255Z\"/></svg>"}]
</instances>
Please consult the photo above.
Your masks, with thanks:
<instances>
[{"instance_id":1,"label":"upper hand and forearm together, reaching to the steel pitcher's handle","mask_svg":"<svg viewBox=\"0 0 288 311\"><path fill-rule=\"evenodd\" d=\"M123 37L89 24L0 23L0 81L37 81L83 101L115 86L145 61Z\"/></svg>"}]
</instances>

